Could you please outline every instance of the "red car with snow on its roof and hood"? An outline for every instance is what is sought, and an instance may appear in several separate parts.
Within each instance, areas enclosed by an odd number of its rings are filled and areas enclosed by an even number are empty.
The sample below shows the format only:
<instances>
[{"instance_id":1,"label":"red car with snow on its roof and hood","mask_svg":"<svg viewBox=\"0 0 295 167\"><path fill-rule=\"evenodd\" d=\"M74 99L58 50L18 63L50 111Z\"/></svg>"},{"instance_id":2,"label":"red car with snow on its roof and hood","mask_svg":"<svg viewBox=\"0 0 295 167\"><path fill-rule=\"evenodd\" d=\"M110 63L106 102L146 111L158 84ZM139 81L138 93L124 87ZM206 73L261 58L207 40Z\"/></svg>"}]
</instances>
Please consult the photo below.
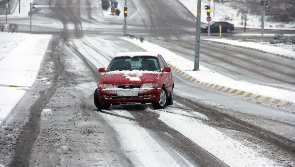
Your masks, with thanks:
<instances>
[{"instance_id":1,"label":"red car with snow on its roof and hood","mask_svg":"<svg viewBox=\"0 0 295 167\"><path fill-rule=\"evenodd\" d=\"M125 52L117 54L94 92L98 109L126 103L152 103L163 109L173 105L174 81L171 68L160 54L151 52Z\"/></svg>"}]
</instances>

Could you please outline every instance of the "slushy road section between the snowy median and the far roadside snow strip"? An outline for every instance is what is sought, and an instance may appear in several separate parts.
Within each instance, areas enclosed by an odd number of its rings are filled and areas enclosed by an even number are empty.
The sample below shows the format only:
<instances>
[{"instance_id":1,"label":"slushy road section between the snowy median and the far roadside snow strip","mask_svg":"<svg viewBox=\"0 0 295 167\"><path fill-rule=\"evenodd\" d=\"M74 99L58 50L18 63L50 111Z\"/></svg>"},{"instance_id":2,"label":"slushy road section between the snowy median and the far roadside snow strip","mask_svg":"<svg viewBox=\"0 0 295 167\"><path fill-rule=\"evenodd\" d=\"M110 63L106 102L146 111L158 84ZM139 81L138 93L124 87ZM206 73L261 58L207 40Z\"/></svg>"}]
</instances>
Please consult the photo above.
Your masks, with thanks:
<instances>
[{"instance_id":1,"label":"slushy road section between the snowy median and the far roadside snow strip","mask_svg":"<svg viewBox=\"0 0 295 167\"><path fill-rule=\"evenodd\" d=\"M153 41L194 61L194 44ZM295 64L288 59L234 46L202 42L200 64L232 79L295 91Z\"/></svg>"}]
</instances>

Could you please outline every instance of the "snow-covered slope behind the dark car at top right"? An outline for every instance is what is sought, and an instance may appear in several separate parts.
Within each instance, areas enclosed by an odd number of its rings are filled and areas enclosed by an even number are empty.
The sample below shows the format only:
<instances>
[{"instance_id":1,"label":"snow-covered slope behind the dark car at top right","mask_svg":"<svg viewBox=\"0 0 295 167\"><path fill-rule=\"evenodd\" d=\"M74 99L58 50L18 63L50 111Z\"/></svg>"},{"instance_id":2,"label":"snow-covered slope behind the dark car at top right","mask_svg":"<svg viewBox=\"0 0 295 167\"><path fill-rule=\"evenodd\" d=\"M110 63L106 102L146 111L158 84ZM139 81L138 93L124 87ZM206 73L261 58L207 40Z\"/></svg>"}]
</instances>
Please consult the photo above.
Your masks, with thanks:
<instances>
[{"instance_id":1,"label":"snow-covered slope behind the dark car at top right","mask_svg":"<svg viewBox=\"0 0 295 167\"><path fill-rule=\"evenodd\" d=\"M184 6L186 6L194 15L197 14L197 1L198 0L179 0ZM205 5L208 5L208 0L202 0L201 5L201 22L207 23L206 17L207 12L205 9ZM241 14L237 16L238 11L233 9L230 6L226 6L226 4L222 3L215 3L215 17L213 18L213 1L211 1L211 17L213 21L218 20L225 20L229 21L232 24L235 24L235 27L244 27L241 25ZM228 17L229 20L224 19L225 17ZM248 21L247 21L247 27L248 28L260 28L261 22L260 17L258 15L248 15ZM295 30L295 21L290 24L283 24L285 28L281 28L279 25L282 25L283 23L276 23L276 22L265 22L265 28L266 29L294 29ZM278 25L278 27L277 27ZM272 26L272 27L270 27Z\"/></svg>"}]
</instances>

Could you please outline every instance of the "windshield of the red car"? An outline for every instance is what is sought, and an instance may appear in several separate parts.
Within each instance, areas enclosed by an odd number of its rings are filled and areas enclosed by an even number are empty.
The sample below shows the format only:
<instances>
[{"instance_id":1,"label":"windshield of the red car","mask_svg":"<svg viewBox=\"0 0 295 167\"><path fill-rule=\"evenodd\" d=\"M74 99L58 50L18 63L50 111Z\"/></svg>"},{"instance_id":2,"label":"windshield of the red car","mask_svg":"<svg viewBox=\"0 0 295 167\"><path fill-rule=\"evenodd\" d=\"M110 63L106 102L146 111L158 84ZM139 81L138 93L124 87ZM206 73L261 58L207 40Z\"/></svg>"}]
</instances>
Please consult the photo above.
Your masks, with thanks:
<instances>
[{"instance_id":1,"label":"windshield of the red car","mask_svg":"<svg viewBox=\"0 0 295 167\"><path fill-rule=\"evenodd\" d=\"M160 71L158 59L155 56L120 56L115 57L107 71Z\"/></svg>"}]
</instances>

